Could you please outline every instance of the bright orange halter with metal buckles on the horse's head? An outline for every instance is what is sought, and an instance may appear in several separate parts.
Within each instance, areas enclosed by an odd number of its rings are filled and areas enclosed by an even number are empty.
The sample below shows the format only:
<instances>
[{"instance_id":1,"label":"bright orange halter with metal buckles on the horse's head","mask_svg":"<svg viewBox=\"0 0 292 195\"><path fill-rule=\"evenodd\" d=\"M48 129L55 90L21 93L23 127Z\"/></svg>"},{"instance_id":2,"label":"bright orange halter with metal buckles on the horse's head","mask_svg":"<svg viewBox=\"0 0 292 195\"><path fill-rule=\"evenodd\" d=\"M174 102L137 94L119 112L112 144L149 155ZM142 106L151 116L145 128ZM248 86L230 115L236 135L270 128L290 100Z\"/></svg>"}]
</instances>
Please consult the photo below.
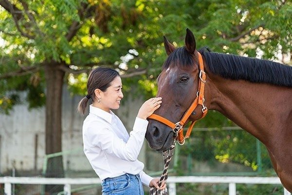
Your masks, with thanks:
<instances>
[{"instance_id":1,"label":"bright orange halter with metal buckles on the horse's head","mask_svg":"<svg viewBox=\"0 0 292 195\"><path fill-rule=\"evenodd\" d=\"M195 98L195 100L193 101L191 106L184 113L182 119L177 123L173 123L173 122L169 121L168 119L161 117L159 115L156 115L156 114L152 114L150 117L148 117L149 119L157 120L157 121L169 126L170 128L172 128L172 131L174 132L175 138L178 140L178 143L180 145L184 144L185 138L190 137L192 129L197 121L197 120L192 121L191 125L189 126L189 128L186 131L185 136L183 136L183 126L185 125L186 120L190 117L192 112L197 108L197 106L198 105L202 106L201 110L202 110L203 114L202 114L201 118L205 117L207 112L208 112L207 107L204 106L204 100L205 100L204 99L204 89L205 89L205 82L206 82L206 73L204 72L204 63L203 63L202 56L199 52L198 52L198 56L199 56L200 82L199 82L199 89L197 92L197 98Z\"/></svg>"}]
</instances>

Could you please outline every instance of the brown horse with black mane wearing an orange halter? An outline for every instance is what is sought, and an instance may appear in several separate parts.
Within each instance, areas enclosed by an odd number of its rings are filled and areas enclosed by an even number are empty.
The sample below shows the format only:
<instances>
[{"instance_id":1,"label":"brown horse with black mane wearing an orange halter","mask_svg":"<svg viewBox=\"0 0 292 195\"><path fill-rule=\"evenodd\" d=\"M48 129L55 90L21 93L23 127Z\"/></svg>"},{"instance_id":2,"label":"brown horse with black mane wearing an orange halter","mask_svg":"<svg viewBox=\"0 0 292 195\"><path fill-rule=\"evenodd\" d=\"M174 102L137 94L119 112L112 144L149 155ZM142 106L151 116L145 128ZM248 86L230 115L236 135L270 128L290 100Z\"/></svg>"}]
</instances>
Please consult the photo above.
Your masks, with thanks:
<instances>
[{"instance_id":1,"label":"brown horse with black mane wearing an orange halter","mask_svg":"<svg viewBox=\"0 0 292 195\"><path fill-rule=\"evenodd\" d=\"M164 48L168 57L157 78L163 102L148 118L149 146L167 150L187 122L203 117L207 108L216 110L266 146L277 176L292 192L292 67L206 47L198 51L189 29L185 46L175 48L164 37Z\"/></svg>"}]
</instances>

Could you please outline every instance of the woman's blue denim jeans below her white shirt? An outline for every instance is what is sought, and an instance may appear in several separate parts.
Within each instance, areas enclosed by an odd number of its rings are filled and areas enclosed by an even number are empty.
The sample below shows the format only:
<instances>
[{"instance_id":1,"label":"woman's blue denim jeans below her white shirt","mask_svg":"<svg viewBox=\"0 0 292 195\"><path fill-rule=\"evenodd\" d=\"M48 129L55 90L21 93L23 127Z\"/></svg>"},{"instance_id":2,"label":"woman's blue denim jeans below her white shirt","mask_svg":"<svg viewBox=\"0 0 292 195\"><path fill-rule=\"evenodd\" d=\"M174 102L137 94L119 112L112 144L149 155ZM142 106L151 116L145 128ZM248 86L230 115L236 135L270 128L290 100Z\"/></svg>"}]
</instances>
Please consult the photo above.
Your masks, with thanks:
<instances>
[{"instance_id":1,"label":"woman's blue denim jeans below her white shirt","mask_svg":"<svg viewBox=\"0 0 292 195\"><path fill-rule=\"evenodd\" d=\"M144 195L139 174L124 174L102 181L102 195Z\"/></svg>"}]
</instances>

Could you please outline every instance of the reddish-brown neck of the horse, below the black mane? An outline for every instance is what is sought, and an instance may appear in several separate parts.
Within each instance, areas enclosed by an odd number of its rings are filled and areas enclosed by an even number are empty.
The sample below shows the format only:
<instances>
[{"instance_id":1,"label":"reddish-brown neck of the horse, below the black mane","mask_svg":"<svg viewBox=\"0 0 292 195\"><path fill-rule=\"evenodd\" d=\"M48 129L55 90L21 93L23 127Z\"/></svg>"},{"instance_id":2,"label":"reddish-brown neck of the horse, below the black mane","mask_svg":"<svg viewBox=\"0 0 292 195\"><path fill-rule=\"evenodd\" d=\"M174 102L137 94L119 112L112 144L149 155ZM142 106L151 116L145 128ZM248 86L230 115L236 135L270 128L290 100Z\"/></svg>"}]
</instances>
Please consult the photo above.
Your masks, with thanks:
<instances>
[{"instance_id":1,"label":"reddish-brown neck of the horse, below the black mane","mask_svg":"<svg viewBox=\"0 0 292 195\"><path fill-rule=\"evenodd\" d=\"M210 109L266 142L277 133L280 120L291 117L292 88L214 76L210 83ZM207 98L207 97L206 97ZM286 117L286 119L285 119Z\"/></svg>"}]
</instances>

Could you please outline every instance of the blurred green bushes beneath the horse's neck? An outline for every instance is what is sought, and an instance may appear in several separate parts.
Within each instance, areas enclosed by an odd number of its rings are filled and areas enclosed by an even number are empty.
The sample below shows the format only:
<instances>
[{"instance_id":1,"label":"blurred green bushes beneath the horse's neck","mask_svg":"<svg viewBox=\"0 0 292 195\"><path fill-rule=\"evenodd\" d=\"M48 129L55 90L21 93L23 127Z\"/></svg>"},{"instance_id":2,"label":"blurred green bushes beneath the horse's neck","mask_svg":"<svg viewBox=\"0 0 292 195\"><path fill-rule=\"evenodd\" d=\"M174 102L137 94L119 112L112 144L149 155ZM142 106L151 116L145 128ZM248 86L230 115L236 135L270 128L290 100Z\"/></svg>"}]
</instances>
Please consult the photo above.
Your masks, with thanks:
<instances>
[{"instance_id":1,"label":"blurred green bushes beneath the horse's neck","mask_svg":"<svg viewBox=\"0 0 292 195\"><path fill-rule=\"evenodd\" d=\"M230 127L230 130L223 130L224 127ZM185 146L180 148L180 155L191 156L193 160L208 161L211 164L215 161L238 163L258 171L256 138L246 131L236 130L237 126L231 120L217 111L209 111L208 116L199 120L195 128L197 130L192 131ZM260 166L263 170L260 174L273 176L274 171L270 173L273 166L268 151L263 144L260 144L260 147Z\"/></svg>"}]
</instances>

